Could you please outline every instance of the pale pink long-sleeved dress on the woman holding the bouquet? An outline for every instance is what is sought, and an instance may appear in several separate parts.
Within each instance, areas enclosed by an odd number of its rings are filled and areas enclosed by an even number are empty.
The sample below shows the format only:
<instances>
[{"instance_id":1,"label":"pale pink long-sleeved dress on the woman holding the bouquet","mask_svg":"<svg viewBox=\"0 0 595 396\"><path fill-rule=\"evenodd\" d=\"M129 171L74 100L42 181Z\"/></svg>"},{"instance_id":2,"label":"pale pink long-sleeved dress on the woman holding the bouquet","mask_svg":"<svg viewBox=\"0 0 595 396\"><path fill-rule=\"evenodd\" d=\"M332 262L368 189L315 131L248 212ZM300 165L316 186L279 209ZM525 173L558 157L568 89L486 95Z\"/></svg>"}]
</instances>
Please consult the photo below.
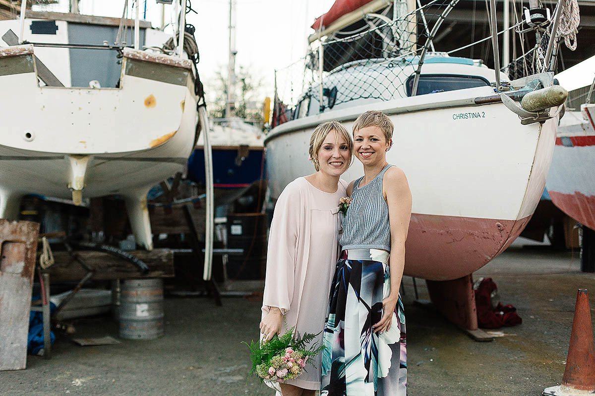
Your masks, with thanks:
<instances>
[{"instance_id":1,"label":"pale pink long-sleeved dress on the woman holding the bouquet","mask_svg":"<svg viewBox=\"0 0 595 396\"><path fill-rule=\"evenodd\" d=\"M281 334L296 326L300 334L310 332L322 341L328 293L337 263L342 214L339 199L346 197L347 183L339 180L337 192L315 188L305 178L289 183L281 193L268 237L267 275L262 318L268 306L285 313ZM320 389L320 354L308 372L287 384Z\"/></svg>"}]
</instances>

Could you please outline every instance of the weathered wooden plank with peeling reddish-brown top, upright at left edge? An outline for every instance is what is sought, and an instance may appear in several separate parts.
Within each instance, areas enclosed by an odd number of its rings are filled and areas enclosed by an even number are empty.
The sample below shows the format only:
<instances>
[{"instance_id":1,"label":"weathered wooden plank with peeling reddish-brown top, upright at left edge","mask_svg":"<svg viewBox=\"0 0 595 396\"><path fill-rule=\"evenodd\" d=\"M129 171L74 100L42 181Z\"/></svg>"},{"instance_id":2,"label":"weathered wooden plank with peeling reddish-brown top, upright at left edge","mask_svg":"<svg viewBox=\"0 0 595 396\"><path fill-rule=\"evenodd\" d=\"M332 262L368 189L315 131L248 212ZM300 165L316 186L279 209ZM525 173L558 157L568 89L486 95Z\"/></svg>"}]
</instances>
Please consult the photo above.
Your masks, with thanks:
<instances>
[{"instance_id":1,"label":"weathered wooden plank with peeling reddish-brown top, upright at left edge","mask_svg":"<svg viewBox=\"0 0 595 396\"><path fill-rule=\"evenodd\" d=\"M0 370L27 363L27 331L39 224L0 219Z\"/></svg>"}]
</instances>

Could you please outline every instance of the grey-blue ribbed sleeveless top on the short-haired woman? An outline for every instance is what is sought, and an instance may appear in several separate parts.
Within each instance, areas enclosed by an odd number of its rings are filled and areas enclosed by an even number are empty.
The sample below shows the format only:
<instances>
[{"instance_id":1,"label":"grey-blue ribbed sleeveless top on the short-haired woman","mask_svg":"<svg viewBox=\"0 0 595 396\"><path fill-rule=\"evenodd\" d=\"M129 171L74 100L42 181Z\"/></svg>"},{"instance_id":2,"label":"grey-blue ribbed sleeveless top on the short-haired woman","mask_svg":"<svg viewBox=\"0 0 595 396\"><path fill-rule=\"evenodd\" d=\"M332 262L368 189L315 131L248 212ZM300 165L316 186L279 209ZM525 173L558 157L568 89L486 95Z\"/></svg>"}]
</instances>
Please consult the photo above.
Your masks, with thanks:
<instances>
[{"instance_id":1,"label":"grey-blue ribbed sleeveless top on the short-haired woman","mask_svg":"<svg viewBox=\"0 0 595 396\"><path fill-rule=\"evenodd\" d=\"M343 218L342 249L384 249L390 252L389 205L382 194L387 164L367 185L360 187L364 176L355 180L352 202Z\"/></svg>"}]
</instances>

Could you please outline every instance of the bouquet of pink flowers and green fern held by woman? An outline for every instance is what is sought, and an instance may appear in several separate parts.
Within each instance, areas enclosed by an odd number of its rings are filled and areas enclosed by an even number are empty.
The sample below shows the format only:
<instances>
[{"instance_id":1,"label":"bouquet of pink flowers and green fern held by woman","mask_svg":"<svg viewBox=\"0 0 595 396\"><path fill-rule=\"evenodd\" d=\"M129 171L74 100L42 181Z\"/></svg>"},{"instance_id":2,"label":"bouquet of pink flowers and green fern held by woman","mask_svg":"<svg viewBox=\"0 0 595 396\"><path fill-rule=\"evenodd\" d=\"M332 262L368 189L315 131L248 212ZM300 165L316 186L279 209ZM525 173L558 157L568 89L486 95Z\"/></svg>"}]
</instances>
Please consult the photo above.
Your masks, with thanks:
<instances>
[{"instance_id":1,"label":"bouquet of pink flowers and green fern held by woman","mask_svg":"<svg viewBox=\"0 0 595 396\"><path fill-rule=\"evenodd\" d=\"M252 360L252 370L259 376L263 382L285 382L299 376L305 370L308 359L317 356L324 346L308 344L317 337L318 334L299 333L293 334L295 327L290 328L281 337L274 335L270 341L252 341L250 345L250 359ZM311 363L312 364L312 363Z\"/></svg>"}]
</instances>

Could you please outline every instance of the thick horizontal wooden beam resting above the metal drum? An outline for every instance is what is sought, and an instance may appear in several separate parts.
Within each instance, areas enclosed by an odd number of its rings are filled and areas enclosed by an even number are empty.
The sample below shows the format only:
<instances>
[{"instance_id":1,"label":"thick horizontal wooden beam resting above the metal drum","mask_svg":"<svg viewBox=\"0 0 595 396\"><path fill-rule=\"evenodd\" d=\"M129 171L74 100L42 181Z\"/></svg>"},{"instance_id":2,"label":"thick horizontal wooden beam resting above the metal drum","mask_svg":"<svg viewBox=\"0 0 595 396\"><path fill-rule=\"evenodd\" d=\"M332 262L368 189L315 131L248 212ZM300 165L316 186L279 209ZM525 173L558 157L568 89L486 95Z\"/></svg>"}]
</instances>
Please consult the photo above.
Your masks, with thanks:
<instances>
[{"instance_id":1,"label":"thick horizontal wooden beam resting above the metal drum","mask_svg":"<svg viewBox=\"0 0 595 396\"><path fill-rule=\"evenodd\" d=\"M174 276L174 254L170 249L128 252L149 266L149 273L141 275L138 268L129 261L97 251L76 251L87 265L95 269L93 280L114 280L127 278L160 278ZM48 268L52 282L80 281L87 271L67 252L53 252L55 264Z\"/></svg>"}]
</instances>

